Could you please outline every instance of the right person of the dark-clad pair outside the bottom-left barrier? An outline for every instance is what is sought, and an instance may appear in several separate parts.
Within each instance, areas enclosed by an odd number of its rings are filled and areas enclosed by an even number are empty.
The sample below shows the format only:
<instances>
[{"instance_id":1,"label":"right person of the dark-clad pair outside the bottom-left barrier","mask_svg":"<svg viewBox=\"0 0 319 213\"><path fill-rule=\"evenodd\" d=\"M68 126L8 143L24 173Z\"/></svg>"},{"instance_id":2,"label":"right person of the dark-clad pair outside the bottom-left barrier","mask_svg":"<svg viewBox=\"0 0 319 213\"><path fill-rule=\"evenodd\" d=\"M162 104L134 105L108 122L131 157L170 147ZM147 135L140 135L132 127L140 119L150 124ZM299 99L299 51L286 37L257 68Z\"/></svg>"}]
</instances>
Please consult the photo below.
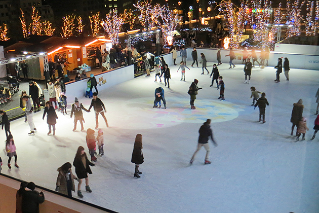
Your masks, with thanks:
<instances>
[{"instance_id":1,"label":"right person of the dark-clad pair outside the bottom-left barrier","mask_svg":"<svg viewBox=\"0 0 319 213\"><path fill-rule=\"evenodd\" d=\"M26 188L22 188L22 213L39 213L39 204L45 201L43 191L38 193L35 189L35 184L30 182Z\"/></svg>"}]
</instances>

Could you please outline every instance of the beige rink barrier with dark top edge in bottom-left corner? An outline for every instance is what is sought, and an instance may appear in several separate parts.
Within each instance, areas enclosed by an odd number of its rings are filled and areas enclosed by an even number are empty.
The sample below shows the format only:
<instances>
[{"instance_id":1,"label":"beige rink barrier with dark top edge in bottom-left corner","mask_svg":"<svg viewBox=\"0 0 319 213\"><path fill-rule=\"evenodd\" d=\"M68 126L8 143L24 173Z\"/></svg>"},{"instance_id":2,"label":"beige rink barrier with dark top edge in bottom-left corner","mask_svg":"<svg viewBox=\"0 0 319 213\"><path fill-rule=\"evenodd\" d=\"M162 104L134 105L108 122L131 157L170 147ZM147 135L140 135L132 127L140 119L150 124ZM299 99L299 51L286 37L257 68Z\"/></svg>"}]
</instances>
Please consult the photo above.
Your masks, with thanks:
<instances>
[{"instance_id":1,"label":"beige rink barrier with dark top edge in bottom-left corner","mask_svg":"<svg viewBox=\"0 0 319 213\"><path fill-rule=\"evenodd\" d=\"M22 180L0 173L0 212L14 212L14 209L16 209L16 192L20 188L21 182ZM53 186L54 185L55 183L53 183ZM36 186L35 190L38 192L42 190L44 191L45 202L39 205L41 213L117 213L116 211L112 211L83 200L69 198L66 195L41 186Z\"/></svg>"}]
</instances>

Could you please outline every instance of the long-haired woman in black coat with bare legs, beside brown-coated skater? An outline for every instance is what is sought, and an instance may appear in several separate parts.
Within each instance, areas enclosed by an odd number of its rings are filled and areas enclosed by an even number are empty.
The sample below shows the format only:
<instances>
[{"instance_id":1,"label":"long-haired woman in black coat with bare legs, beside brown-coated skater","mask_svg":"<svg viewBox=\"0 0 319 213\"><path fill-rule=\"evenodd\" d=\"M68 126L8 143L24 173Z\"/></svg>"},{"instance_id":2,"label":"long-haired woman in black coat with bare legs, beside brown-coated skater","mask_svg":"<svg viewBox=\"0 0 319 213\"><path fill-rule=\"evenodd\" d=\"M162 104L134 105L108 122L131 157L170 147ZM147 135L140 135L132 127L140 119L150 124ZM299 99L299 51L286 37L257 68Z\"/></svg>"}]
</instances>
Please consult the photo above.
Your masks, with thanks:
<instances>
[{"instance_id":1,"label":"long-haired woman in black coat with bare legs, beside brown-coated skater","mask_svg":"<svg viewBox=\"0 0 319 213\"><path fill-rule=\"evenodd\" d=\"M79 146L77 148L77 152L73 161L73 166L75 167L75 173L78 179L78 185L77 185L77 196L80 198L83 198L82 192L81 192L81 185L82 180L85 179L85 189L87 192L92 192L89 186L89 177L88 173L92 174L90 166L95 166L94 163L91 163L87 157L87 154L84 151L84 148L82 146Z\"/></svg>"}]
</instances>

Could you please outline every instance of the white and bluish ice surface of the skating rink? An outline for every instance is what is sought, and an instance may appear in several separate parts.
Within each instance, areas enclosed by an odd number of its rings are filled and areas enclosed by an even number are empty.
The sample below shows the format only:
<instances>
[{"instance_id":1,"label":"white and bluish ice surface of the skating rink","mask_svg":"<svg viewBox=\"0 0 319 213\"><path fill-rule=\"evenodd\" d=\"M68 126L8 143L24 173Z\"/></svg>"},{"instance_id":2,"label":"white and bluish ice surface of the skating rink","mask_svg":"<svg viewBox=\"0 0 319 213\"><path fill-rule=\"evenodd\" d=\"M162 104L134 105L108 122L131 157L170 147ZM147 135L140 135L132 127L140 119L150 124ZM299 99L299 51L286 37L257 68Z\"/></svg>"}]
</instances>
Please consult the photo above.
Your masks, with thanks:
<instances>
[{"instance_id":1,"label":"white and bluish ice surface of the skating rink","mask_svg":"<svg viewBox=\"0 0 319 213\"><path fill-rule=\"evenodd\" d=\"M208 62L210 72L212 64ZM187 65L190 67L190 62ZM197 67L186 69L186 82L182 82L180 71L176 72L178 66L171 66L170 89L154 82L151 73L151 77L144 75L101 91L99 97L105 103L110 127L106 128L100 117L105 155L97 157L93 174L89 175L93 192L85 192L82 186L83 200L121 213L319 212L319 135L310 140L319 72L292 68L289 82L282 73L281 83L274 83L276 69L256 66L251 84L244 84L244 65L228 67L219 66L225 101L217 99L216 83L209 87L207 72L201 75L202 68ZM203 89L195 100L197 109L190 110L187 91L194 78ZM166 110L152 108L154 89L159 86L165 89ZM265 124L258 122L258 108L251 106L251 86L265 92L270 103ZM78 98L89 107L91 99ZM300 98L310 130L306 140L295 143L295 137L290 136L290 117L293 103ZM69 114L72 103L73 99L68 99ZM20 168L8 169L3 142L2 172L54 190L57 168L65 162L73 163L78 146L85 147L88 154L86 133L79 132L79 124L78 131L72 132L69 114L58 113L56 136L47 135L43 111L34 115L37 132L33 136L27 135L29 126L24 118L11 122ZM84 112L84 118L85 129L94 129L93 110ZM214 148L209 142L212 164L204 165L203 148L189 165L198 129L208 118L212 119L218 143ZM138 133L143 135L145 159L139 169L143 174L135 179L131 155ZM4 141L5 132L1 135ZM76 193L73 196L77 198Z\"/></svg>"}]
</instances>

